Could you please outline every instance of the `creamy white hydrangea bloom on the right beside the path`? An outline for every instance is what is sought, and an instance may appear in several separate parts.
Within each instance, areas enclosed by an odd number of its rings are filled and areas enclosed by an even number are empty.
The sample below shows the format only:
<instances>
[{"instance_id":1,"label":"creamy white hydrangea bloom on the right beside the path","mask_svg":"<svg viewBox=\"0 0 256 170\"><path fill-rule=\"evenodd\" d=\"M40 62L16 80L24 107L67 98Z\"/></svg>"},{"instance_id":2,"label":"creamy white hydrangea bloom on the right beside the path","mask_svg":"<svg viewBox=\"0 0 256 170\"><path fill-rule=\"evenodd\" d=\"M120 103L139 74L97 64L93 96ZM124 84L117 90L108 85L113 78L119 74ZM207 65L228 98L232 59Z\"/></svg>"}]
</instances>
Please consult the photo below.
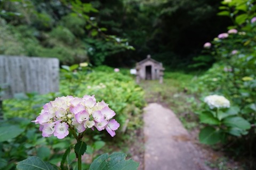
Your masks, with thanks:
<instances>
[{"instance_id":1,"label":"creamy white hydrangea bloom on the right beside the path","mask_svg":"<svg viewBox=\"0 0 256 170\"><path fill-rule=\"evenodd\" d=\"M210 95L204 98L204 102L211 108L229 108L230 102L223 96Z\"/></svg>"}]
</instances>

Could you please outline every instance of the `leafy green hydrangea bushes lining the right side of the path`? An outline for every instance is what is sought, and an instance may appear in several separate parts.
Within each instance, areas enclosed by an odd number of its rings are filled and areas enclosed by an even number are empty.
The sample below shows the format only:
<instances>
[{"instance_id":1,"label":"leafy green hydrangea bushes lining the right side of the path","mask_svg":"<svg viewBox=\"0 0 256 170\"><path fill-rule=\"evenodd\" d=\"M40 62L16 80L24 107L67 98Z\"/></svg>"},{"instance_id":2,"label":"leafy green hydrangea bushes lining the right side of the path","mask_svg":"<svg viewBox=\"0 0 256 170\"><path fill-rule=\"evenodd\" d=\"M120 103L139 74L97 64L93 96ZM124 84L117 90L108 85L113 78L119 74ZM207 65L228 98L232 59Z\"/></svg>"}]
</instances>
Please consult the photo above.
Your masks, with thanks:
<instances>
[{"instance_id":1,"label":"leafy green hydrangea bushes lining the right side of the path","mask_svg":"<svg viewBox=\"0 0 256 170\"><path fill-rule=\"evenodd\" d=\"M189 88L202 100L217 94L230 101L230 108L209 108L205 103L197 107L204 124L199 140L210 145L228 143L228 150L235 150L236 156L250 155L251 162L256 149L252 144L256 137L255 8L255 1L222 2L219 15L230 16L234 25L224 37L214 38L208 50L218 62Z\"/></svg>"}]
</instances>

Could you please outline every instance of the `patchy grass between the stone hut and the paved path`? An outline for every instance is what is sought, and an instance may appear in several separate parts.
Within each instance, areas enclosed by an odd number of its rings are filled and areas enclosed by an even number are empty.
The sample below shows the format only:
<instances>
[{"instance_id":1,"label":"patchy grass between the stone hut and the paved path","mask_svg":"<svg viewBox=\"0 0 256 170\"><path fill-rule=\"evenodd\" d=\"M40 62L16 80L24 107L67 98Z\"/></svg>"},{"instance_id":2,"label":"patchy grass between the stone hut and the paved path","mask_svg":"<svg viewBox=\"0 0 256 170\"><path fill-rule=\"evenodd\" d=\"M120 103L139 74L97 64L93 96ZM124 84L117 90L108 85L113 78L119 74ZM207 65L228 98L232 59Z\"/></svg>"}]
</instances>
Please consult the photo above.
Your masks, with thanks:
<instances>
[{"instance_id":1,"label":"patchy grass between the stone hut and the paved path","mask_svg":"<svg viewBox=\"0 0 256 170\"><path fill-rule=\"evenodd\" d=\"M194 95L187 92L194 76L182 72L165 72L163 84L159 84L158 80L141 82L146 101L171 108L188 130L198 125L197 116L191 111L197 102Z\"/></svg>"}]
</instances>

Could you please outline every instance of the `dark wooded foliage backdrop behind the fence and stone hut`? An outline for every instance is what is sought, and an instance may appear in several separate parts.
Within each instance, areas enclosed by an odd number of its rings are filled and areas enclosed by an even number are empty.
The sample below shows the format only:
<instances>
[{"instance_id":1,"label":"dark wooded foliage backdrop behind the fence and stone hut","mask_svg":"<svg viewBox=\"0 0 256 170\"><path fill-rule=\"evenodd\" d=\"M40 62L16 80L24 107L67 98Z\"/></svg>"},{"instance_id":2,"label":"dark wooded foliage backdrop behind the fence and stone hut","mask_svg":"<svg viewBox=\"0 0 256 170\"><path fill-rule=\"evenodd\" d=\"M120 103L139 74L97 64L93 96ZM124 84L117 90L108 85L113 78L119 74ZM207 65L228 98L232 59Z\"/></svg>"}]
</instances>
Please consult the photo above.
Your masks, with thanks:
<instances>
[{"instance_id":1,"label":"dark wooded foliage backdrop behind the fence and stone hut","mask_svg":"<svg viewBox=\"0 0 256 170\"><path fill-rule=\"evenodd\" d=\"M203 43L229 23L216 15L219 2L2 1L0 54L111 66L134 66L151 54L173 69L205 68L213 60L198 58Z\"/></svg>"}]
</instances>

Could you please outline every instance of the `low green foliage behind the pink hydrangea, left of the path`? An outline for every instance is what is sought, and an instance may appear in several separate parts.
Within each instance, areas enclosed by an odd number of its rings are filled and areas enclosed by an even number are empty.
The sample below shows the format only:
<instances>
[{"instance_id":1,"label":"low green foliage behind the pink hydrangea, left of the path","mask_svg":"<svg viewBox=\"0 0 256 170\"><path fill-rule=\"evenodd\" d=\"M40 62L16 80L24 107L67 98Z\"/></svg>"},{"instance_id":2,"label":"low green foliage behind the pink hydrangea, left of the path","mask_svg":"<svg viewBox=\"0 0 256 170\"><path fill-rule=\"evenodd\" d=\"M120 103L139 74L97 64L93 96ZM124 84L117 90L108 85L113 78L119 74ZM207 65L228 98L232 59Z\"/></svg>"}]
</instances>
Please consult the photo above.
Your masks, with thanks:
<instances>
[{"instance_id":1,"label":"low green foliage behind the pink hydrangea, left of the path","mask_svg":"<svg viewBox=\"0 0 256 170\"><path fill-rule=\"evenodd\" d=\"M109 71L102 72L100 71L102 68ZM40 159L55 165L60 163L63 150L69 148L70 143L75 141L70 138L62 140L55 137L43 138L36 125L30 121L41 112L45 103L57 96L83 97L85 94L95 95L100 101L104 99L116 112L115 118L121 125L114 141L108 137L107 133L98 133L97 130L86 131L84 141L87 144L88 164L106 143L111 145L111 143L126 140L134 130L141 127L141 108L145 102L142 89L135 84L132 77L114 72L114 69L106 66L98 67L95 71L89 67L78 67L78 65L63 66L59 93L19 94L14 99L3 101L4 117L8 121L1 121L0 130L4 132L6 128L11 128L12 131L8 131L8 134L0 134L0 146L3 148L0 150L0 169L14 169L15 163L31 155L37 155ZM67 154L69 156L66 155L65 159L70 166L76 166L76 162L73 161L75 153L72 150L69 150L70 154ZM63 163L62 166L67 165ZM89 165L84 163L83 167L89 168Z\"/></svg>"}]
</instances>

